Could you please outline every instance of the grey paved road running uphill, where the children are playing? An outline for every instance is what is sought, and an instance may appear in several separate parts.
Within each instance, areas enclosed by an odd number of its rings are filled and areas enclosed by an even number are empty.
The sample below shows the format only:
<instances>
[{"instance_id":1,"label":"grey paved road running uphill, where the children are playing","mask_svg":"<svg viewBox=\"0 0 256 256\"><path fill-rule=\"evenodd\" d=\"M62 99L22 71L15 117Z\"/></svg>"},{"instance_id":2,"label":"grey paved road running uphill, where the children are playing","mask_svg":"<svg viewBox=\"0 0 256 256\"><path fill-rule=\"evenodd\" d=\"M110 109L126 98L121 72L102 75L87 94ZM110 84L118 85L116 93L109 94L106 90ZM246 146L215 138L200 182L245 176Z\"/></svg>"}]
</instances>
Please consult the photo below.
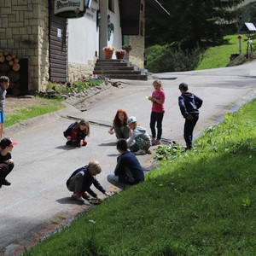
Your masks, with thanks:
<instances>
[{"instance_id":1,"label":"grey paved road running uphill, where the children are playing","mask_svg":"<svg viewBox=\"0 0 256 256\"><path fill-rule=\"evenodd\" d=\"M183 143L183 118L177 107L177 86L181 82L188 83L189 90L204 100L195 137L208 125L223 119L224 113L251 100L256 93L256 62L241 67L157 75L166 90L163 137L178 143ZM15 169L8 177L12 184L0 189L0 255L15 255L15 248L36 241L45 227L87 209L71 200L71 193L65 186L67 177L76 168L90 160L99 160L102 173L98 179L110 188L106 177L113 172L118 153L115 137L108 134L105 125L111 124L118 108L124 108L149 131L151 106L145 96L152 93L153 81L123 82L123 89L106 95L87 111L79 112L70 107L5 131L5 136L11 136L18 145L12 153ZM72 121L67 115L105 125L91 125L91 136L85 148L67 148L62 136ZM152 162L150 155L139 156L139 160L143 166Z\"/></svg>"}]
</instances>

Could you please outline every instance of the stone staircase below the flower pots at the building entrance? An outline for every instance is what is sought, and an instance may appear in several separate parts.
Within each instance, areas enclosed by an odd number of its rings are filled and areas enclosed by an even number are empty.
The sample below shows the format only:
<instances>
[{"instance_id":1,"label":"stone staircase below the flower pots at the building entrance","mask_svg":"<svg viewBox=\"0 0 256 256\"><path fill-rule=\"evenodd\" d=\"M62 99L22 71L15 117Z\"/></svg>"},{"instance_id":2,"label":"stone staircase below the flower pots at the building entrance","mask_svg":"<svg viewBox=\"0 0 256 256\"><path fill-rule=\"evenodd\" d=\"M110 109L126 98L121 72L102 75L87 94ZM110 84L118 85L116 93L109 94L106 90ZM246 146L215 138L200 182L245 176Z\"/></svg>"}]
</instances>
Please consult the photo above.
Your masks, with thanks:
<instances>
[{"instance_id":1,"label":"stone staircase below the flower pots at the building entrance","mask_svg":"<svg viewBox=\"0 0 256 256\"><path fill-rule=\"evenodd\" d=\"M125 60L98 60L94 74L110 79L148 80L148 71Z\"/></svg>"}]
</instances>

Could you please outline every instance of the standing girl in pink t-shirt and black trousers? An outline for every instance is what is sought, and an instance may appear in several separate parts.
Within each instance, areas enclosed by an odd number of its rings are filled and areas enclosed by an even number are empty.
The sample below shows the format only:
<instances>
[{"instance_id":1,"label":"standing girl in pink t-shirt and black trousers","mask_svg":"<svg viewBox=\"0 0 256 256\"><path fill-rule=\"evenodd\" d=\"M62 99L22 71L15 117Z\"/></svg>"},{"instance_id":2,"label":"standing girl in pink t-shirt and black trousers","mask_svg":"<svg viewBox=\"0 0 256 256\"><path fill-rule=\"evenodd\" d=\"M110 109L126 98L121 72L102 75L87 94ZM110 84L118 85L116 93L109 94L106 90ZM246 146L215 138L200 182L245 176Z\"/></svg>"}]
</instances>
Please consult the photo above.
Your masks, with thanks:
<instances>
[{"instance_id":1,"label":"standing girl in pink t-shirt and black trousers","mask_svg":"<svg viewBox=\"0 0 256 256\"><path fill-rule=\"evenodd\" d=\"M159 80L153 82L154 91L152 96L148 96L148 100L152 102L152 111L150 115L150 129L152 133L152 145L159 145L162 136L162 121L165 113L166 93L162 88ZM155 123L157 127L157 137L155 139Z\"/></svg>"}]
</instances>

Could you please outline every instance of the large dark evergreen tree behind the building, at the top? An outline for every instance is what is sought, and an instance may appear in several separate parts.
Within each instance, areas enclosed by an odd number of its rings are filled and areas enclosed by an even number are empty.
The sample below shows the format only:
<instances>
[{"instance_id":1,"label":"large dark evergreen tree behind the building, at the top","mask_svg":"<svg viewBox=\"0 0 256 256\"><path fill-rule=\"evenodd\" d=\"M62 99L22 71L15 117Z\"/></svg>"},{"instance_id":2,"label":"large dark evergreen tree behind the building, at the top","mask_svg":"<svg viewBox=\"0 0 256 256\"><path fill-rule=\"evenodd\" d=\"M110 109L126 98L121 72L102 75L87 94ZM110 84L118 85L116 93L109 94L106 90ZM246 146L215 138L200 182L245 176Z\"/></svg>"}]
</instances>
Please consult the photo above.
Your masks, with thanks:
<instances>
[{"instance_id":1,"label":"large dark evergreen tree behind the building, at the top","mask_svg":"<svg viewBox=\"0 0 256 256\"><path fill-rule=\"evenodd\" d=\"M182 49L218 44L224 26L236 19L236 7L243 1L162 0L171 15L166 18L147 7L146 44L178 44Z\"/></svg>"}]
</instances>

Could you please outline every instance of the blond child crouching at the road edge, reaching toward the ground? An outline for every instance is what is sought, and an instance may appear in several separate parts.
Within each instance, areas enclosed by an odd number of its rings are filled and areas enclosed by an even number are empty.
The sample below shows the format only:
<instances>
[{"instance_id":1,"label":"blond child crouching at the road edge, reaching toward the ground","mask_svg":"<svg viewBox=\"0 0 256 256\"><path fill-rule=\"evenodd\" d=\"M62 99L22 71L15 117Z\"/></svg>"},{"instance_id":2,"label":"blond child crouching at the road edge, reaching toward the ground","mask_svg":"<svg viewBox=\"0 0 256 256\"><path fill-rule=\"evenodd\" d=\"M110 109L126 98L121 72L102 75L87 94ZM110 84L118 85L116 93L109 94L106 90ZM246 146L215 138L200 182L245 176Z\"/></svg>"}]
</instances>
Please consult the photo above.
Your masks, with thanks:
<instances>
[{"instance_id":1,"label":"blond child crouching at the road edge, reaching toward the ground","mask_svg":"<svg viewBox=\"0 0 256 256\"><path fill-rule=\"evenodd\" d=\"M73 172L67 180L67 189L73 192L72 198L89 205L89 195L93 196L96 201L101 202L102 199L90 189L91 184L94 184L96 189L102 194L109 196L108 192L102 188L102 185L96 180L96 175L102 172L102 167L98 161L90 161L88 166L83 166Z\"/></svg>"}]
</instances>

